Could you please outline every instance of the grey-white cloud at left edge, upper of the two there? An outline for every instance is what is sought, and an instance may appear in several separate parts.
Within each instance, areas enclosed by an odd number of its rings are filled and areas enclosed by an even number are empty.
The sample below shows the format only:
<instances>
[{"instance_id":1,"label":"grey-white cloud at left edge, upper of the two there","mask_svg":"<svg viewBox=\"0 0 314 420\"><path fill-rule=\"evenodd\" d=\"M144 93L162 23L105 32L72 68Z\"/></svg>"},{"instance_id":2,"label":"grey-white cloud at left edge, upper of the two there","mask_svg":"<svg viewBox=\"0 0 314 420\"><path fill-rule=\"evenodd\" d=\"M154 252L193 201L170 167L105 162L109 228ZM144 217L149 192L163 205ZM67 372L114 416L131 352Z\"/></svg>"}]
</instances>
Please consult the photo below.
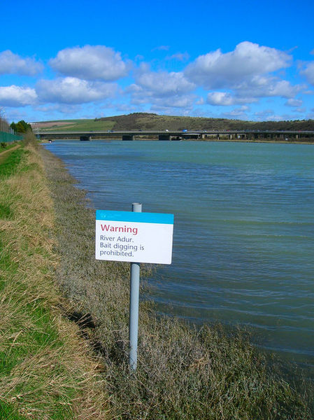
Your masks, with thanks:
<instances>
[{"instance_id":1,"label":"grey-white cloud at left edge, upper of the two there","mask_svg":"<svg viewBox=\"0 0 314 420\"><path fill-rule=\"evenodd\" d=\"M19 74L20 76L35 76L43 70L43 64L35 59L13 54L6 50L0 52L0 74Z\"/></svg>"}]
</instances>

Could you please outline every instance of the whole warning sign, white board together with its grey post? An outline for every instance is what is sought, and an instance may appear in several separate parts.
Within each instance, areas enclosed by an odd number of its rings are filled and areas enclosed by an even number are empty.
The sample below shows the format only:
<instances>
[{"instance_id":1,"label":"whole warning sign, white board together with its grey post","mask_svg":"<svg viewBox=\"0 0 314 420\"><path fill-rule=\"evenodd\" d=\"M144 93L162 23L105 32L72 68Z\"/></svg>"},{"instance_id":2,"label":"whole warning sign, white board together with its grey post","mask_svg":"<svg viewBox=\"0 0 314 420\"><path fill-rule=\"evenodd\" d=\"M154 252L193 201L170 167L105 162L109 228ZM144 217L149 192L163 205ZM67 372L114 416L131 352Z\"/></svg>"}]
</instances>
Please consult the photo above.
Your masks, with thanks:
<instances>
[{"instance_id":1,"label":"whole warning sign, white board together with its grey post","mask_svg":"<svg viewBox=\"0 0 314 420\"><path fill-rule=\"evenodd\" d=\"M132 211L96 211L95 258L131 262L129 306L129 366L137 365L140 262L171 264L173 214Z\"/></svg>"}]
</instances>

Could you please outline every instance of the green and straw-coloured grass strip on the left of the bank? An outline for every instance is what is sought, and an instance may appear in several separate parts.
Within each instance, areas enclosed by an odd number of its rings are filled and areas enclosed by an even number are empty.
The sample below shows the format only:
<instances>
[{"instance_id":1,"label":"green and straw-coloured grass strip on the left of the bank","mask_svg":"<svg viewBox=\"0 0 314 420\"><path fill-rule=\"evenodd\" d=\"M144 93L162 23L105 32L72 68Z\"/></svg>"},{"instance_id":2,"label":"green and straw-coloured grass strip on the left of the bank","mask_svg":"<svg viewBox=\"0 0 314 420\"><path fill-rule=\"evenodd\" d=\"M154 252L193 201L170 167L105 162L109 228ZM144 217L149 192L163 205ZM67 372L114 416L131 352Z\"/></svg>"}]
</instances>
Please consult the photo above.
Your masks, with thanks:
<instances>
[{"instance_id":1,"label":"green and straw-coloured grass strip on the left of the bank","mask_svg":"<svg viewBox=\"0 0 314 420\"><path fill-rule=\"evenodd\" d=\"M106 418L99 363L61 310L67 303L54 279L54 224L36 148L6 153L0 164L0 419Z\"/></svg>"}]
</instances>

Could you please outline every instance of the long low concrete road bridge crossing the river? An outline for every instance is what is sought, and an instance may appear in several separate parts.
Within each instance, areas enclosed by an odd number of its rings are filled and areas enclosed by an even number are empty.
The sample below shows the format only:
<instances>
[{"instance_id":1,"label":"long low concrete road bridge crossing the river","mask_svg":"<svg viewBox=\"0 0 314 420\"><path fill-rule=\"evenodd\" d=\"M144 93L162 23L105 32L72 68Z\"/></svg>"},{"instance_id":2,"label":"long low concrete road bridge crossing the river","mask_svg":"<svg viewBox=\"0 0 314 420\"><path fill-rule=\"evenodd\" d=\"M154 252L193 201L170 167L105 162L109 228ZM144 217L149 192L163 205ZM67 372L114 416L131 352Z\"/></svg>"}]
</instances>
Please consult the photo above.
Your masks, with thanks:
<instances>
[{"instance_id":1,"label":"long low concrete road bridge crossing the river","mask_svg":"<svg viewBox=\"0 0 314 420\"><path fill-rule=\"evenodd\" d=\"M135 139L152 139L159 141L178 140L278 140L278 141L314 141L314 131L276 131L276 130L126 130L126 131L41 131L35 130L39 139L121 139L133 141Z\"/></svg>"}]
</instances>

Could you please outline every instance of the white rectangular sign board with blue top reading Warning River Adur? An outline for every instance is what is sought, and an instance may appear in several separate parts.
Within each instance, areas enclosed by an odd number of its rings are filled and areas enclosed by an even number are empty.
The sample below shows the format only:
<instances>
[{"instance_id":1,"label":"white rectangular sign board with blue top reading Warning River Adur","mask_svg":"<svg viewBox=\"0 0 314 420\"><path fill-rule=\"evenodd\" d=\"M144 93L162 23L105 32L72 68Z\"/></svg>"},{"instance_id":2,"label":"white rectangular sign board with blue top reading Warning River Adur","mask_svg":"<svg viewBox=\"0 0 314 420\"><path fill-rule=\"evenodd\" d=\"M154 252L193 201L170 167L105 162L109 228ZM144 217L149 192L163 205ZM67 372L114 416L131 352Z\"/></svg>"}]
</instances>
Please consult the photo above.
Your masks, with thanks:
<instances>
[{"instance_id":1,"label":"white rectangular sign board with blue top reading Warning River Adur","mask_svg":"<svg viewBox=\"0 0 314 420\"><path fill-rule=\"evenodd\" d=\"M96 259L171 264L173 214L96 211Z\"/></svg>"}]
</instances>

